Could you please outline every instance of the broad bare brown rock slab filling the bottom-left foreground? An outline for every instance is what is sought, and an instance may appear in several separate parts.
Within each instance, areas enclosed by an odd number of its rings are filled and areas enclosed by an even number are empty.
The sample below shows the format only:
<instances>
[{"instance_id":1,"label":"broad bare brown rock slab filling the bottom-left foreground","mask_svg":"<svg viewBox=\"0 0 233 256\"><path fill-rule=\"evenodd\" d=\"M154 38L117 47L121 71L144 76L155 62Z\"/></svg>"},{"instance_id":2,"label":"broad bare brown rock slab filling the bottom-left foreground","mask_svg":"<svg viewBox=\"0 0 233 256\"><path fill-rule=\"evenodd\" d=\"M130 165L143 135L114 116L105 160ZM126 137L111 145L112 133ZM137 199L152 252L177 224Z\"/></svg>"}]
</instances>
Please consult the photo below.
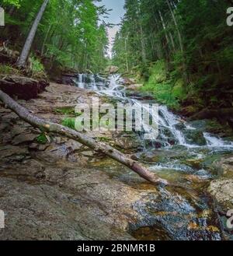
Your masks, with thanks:
<instances>
[{"instance_id":1,"label":"broad bare brown rock slab filling the bottom-left foreground","mask_svg":"<svg viewBox=\"0 0 233 256\"><path fill-rule=\"evenodd\" d=\"M99 170L26 160L0 172L1 240L133 240L127 233L143 193Z\"/></svg>"}]
</instances>

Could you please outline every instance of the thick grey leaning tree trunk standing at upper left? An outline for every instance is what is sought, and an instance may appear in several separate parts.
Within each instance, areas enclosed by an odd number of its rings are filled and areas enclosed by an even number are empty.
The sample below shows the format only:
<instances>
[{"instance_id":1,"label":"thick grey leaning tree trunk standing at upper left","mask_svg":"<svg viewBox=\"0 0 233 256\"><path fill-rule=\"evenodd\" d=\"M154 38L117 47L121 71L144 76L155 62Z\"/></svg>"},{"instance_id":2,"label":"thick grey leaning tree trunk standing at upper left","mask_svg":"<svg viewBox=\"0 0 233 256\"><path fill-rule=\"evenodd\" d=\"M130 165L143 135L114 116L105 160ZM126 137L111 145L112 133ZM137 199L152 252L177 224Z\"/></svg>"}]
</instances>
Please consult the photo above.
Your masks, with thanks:
<instances>
[{"instance_id":1,"label":"thick grey leaning tree trunk standing at upper left","mask_svg":"<svg viewBox=\"0 0 233 256\"><path fill-rule=\"evenodd\" d=\"M30 54L30 48L32 47L34 37L37 33L37 28L39 26L40 20L43 16L43 12L45 11L48 2L49 0L44 0L43 5L41 5L40 7L40 11L37 14L37 18L35 19L33 26L30 30L30 33L23 46L23 51L20 54L19 60L16 63L16 65L18 65L19 67L24 67L26 65L26 60Z\"/></svg>"}]
</instances>

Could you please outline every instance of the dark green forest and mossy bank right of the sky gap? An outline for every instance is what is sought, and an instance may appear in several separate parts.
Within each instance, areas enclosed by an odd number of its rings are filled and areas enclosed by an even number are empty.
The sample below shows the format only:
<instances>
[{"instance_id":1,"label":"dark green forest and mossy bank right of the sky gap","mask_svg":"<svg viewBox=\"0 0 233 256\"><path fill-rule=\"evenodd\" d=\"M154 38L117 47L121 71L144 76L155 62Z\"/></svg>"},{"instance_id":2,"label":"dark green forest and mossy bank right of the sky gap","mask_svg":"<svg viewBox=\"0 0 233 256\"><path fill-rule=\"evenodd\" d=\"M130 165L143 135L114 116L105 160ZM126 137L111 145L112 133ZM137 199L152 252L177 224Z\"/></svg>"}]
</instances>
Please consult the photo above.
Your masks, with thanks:
<instances>
[{"instance_id":1,"label":"dark green forest and mossy bank right of the sky gap","mask_svg":"<svg viewBox=\"0 0 233 256\"><path fill-rule=\"evenodd\" d=\"M144 91L185 114L232 107L231 1L127 0L113 46L121 72L137 73Z\"/></svg>"}]
</instances>

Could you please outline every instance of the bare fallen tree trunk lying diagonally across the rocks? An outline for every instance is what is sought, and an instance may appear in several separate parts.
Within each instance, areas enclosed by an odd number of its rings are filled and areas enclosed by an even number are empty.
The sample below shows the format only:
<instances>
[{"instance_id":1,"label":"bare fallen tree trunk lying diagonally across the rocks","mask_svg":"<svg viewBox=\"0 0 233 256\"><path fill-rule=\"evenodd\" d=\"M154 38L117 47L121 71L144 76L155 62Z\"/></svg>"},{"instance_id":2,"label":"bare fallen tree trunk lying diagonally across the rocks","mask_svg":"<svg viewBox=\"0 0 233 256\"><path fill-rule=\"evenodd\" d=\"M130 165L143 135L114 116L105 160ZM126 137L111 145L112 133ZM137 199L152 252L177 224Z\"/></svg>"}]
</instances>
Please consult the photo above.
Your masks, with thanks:
<instances>
[{"instance_id":1,"label":"bare fallen tree trunk lying diagonally across the rocks","mask_svg":"<svg viewBox=\"0 0 233 256\"><path fill-rule=\"evenodd\" d=\"M117 162L122 163L126 167L129 167L131 170L134 170L135 173L137 173L147 181L151 181L155 184L168 184L167 181L157 177L155 174L148 171L145 167L141 166L140 163L131 160L123 153L120 153L120 151L118 151L117 149L113 149L113 147L103 142L97 142L95 139L83 135L81 132L72 130L71 128L64 127L61 124L55 124L34 116L25 107L22 107L15 100L12 100L10 96L3 93L1 89L0 100L2 100L2 102L5 103L5 106L9 107L9 109L15 112L20 118L31 124L33 127L39 128L42 132L56 133L66 136L70 139L74 139L75 141L80 142L85 146L88 146L90 149L93 149L96 152L104 153L106 156L110 156L110 158L112 158L113 160L117 160Z\"/></svg>"}]
</instances>

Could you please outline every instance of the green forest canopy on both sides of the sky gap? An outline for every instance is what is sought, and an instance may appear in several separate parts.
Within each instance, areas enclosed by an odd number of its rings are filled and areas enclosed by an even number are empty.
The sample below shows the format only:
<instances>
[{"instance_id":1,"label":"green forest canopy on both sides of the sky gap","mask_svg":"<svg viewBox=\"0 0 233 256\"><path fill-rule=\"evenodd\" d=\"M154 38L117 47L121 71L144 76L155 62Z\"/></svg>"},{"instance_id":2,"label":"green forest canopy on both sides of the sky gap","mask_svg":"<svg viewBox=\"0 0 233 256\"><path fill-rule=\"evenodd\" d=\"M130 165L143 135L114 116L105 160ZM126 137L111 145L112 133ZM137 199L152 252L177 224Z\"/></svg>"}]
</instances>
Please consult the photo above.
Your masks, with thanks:
<instances>
[{"instance_id":1,"label":"green forest canopy on both sides of the sky gap","mask_svg":"<svg viewBox=\"0 0 233 256\"><path fill-rule=\"evenodd\" d=\"M107 15L100 0L50 0L33 42L33 59L48 72L74 68L101 72L108 63ZM2 0L1 39L18 51L43 0ZM137 74L143 90L169 107L232 107L231 0L126 0L113 45L113 65Z\"/></svg>"}]
</instances>

